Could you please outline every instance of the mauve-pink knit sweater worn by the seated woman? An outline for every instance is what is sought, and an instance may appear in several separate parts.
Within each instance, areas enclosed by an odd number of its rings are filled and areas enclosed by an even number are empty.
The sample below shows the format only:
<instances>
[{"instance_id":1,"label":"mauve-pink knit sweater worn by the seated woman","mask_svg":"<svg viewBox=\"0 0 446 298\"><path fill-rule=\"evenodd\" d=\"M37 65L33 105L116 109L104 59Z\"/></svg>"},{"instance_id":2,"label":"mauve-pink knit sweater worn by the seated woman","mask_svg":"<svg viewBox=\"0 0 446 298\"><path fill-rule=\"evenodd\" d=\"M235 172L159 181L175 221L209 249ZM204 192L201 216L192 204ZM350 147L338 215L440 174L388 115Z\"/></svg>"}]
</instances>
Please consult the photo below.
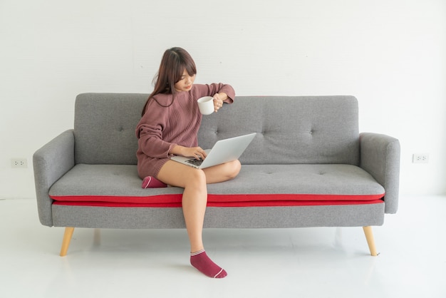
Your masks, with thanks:
<instances>
[{"instance_id":1,"label":"mauve-pink knit sweater worn by the seated woman","mask_svg":"<svg viewBox=\"0 0 446 298\"><path fill-rule=\"evenodd\" d=\"M199 113L197 99L219 92L227 93L227 103L234 101L234 89L222 83L194 84L190 91L177 93L175 98L172 94L157 94L150 100L136 127L140 178L157 177L162 165L170 159L169 151L175 145L198 146L197 133L202 114Z\"/></svg>"}]
</instances>

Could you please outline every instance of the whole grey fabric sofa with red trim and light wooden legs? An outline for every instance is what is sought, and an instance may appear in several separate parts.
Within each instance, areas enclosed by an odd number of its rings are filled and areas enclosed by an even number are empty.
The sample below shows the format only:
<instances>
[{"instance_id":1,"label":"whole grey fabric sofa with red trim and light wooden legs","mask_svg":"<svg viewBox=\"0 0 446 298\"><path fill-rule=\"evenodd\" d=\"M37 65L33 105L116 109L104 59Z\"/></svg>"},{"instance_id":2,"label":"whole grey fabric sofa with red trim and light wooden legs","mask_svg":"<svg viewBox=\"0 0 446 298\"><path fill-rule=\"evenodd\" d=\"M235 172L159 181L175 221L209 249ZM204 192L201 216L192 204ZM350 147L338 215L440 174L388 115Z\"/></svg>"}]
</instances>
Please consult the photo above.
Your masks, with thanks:
<instances>
[{"instance_id":1,"label":"whole grey fabric sofa with red trim and light wooden legs","mask_svg":"<svg viewBox=\"0 0 446 298\"><path fill-rule=\"evenodd\" d=\"M143 189L137 174L135 125L147 96L79 95L74 128L34 153L39 219L66 227L62 256L75 227L185 227L182 189ZM398 209L400 145L358 132L356 98L237 96L203 116L199 145L253 132L237 178L208 185L204 227L363 227L377 255L371 226Z\"/></svg>"}]
</instances>

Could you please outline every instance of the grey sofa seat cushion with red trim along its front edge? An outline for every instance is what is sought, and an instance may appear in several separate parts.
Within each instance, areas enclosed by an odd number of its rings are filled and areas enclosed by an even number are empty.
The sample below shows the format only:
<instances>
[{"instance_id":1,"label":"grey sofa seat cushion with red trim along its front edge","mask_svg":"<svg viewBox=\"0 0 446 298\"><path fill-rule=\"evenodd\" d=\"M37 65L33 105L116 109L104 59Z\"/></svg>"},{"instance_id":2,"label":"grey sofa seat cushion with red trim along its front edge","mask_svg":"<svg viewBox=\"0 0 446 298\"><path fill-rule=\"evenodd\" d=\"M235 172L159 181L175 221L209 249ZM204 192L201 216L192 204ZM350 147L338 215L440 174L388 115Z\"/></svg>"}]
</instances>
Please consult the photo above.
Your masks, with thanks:
<instances>
[{"instance_id":1,"label":"grey sofa seat cushion with red trim along its front edge","mask_svg":"<svg viewBox=\"0 0 446 298\"><path fill-rule=\"evenodd\" d=\"M183 189L143 189L136 165L75 165L54 183L58 205L180 207ZM382 203L383 187L354 165L242 165L234 180L208 185L208 206Z\"/></svg>"}]
</instances>

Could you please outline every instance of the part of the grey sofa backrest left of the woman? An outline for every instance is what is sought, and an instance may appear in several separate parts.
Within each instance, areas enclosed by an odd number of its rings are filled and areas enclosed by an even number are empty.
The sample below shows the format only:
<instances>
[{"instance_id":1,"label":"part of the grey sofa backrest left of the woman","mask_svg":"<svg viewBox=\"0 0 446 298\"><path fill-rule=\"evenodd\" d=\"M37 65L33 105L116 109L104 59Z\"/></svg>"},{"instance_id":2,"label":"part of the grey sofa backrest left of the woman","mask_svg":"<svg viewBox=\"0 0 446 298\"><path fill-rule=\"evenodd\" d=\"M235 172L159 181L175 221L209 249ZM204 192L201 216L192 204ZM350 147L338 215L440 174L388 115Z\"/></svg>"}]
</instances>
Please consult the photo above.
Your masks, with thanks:
<instances>
[{"instance_id":1,"label":"part of the grey sofa backrest left of the woman","mask_svg":"<svg viewBox=\"0 0 446 298\"><path fill-rule=\"evenodd\" d=\"M74 116L76 163L136 165L135 128L148 94L83 93Z\"/></svg>"}]
</instances>

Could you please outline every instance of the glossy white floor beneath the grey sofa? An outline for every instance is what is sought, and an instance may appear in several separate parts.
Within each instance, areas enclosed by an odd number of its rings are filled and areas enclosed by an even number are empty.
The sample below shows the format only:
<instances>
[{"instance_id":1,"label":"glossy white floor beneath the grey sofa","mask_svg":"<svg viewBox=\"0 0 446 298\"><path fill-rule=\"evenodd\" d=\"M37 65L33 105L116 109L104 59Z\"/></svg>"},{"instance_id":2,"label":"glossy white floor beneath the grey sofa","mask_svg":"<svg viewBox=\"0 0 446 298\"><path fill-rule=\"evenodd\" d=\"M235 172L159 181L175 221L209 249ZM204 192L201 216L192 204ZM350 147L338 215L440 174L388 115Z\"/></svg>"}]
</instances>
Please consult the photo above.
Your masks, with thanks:
<instances>
[{"instance_id":1,"label":"glossy white floor beneath the grey sofa","mask_svg":"<svg viewBox=\"0 0 446 298\"><path fill-rule=\"evenodd\" d=\"M0 200L0 297L446 297L446 197L400 197L374 227L205 230L228 272L189 264L185 230L63 229L38 222L34 200Z\"/></svg>"}]
</instances>

